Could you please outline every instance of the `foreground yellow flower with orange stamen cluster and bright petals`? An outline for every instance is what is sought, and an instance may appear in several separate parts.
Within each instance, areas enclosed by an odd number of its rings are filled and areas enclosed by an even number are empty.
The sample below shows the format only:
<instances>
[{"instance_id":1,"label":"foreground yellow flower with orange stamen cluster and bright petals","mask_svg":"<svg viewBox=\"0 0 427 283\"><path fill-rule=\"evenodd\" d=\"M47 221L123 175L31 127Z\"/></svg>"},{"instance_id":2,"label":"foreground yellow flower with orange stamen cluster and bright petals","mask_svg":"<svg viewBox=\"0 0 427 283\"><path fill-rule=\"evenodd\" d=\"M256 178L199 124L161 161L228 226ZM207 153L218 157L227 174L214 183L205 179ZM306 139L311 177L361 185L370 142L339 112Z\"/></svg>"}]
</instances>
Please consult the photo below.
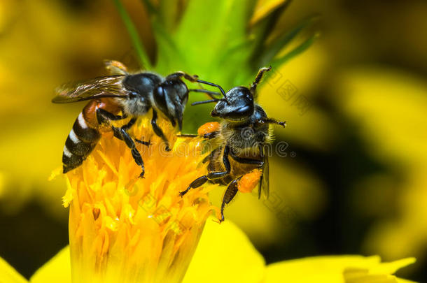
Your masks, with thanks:
<instances>
[{"instance_id":1,"label":"foreground yellow flower with orange stamen cluster and bright petals","mask_svg":"<svg viewBox=\"0 0 427 283\"><path fill-rule=\"evenodd\" d=\"M197 246L215 210L207 193L216 185L179 196L206 170L200 166L204 154L198 138L180 140L168 122L160 126L174 143L172 152L165 152L148 119L131 131L152 143L139 147L147 169L144 179L138 177L141 168L130 150L116 138L102 138L83 165L67 173L70 247L30 282L397 282L392 274L414 262L323 256L265 266L235 224L219 225L214 219ZM0 259L3 282L27 280Z\"/></svg>"}]
</instances>

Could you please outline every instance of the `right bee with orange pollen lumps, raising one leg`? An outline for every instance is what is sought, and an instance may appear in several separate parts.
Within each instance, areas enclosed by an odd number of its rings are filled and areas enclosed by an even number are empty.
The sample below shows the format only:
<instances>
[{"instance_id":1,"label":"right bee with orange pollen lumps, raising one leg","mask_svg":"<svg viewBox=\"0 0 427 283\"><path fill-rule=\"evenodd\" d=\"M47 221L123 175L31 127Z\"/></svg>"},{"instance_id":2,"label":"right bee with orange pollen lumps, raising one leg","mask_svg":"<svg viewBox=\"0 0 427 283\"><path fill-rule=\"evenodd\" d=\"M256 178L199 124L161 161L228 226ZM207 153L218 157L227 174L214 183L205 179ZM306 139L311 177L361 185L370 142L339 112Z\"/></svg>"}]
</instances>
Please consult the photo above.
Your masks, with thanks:
<instances>
[{"instance_id":1,"label":"right bee with orange pollen lumps, raising one leg","mask_svg":"<svg viewBox=\"0 0 427 283\"><path fill-rule=\"evenodd\" d=\"M237 191L252 191L259 184L258 198L261 194L268 197L269 165L267 145L272 141L269 124L285 127L286 122L278 122L267 114L254 100L257 99L256 87L262 75L269 68L261 68L251 87L234 87L227 93L221 87L222 99L197 101L192 105L216 102L212 117L219 117L221 123L209 122L197 130L197 135L211 140L214 145L203 162L208 162L208 173L190 183L180 192L181 196L190 189L202 186L206 182L226 185L227 189L221 204L221 219L224 221L225 205L236 196Z\"/></svg>"}]
</instances>

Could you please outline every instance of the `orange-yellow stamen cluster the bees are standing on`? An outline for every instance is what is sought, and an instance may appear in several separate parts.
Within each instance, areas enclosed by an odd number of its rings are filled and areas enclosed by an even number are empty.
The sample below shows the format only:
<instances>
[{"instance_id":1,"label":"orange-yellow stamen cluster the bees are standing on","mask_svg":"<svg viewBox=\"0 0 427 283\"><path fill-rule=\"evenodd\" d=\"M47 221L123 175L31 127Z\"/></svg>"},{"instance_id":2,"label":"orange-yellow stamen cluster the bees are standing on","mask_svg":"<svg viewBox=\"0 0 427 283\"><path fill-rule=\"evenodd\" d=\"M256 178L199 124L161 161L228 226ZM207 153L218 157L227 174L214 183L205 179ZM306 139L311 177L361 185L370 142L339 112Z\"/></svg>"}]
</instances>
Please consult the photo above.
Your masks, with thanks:
<instances>
[{"instance_id":1,"label":"orange-yellow stamen cluster the bees are standing on","mask_svg":"<svg viewBox=\"0 0 427 283\"><path fill-rule=\"evenodd\" d=\"M131 135L151 140L137 145L144 179L130 149L117 138L102 138L83 165L67 174L72 282L181 282L213 207L207 192L192 189L205 166L199 138L177 139L160 121L172 152L141 119Z\"/></svg>"}]
</instances>

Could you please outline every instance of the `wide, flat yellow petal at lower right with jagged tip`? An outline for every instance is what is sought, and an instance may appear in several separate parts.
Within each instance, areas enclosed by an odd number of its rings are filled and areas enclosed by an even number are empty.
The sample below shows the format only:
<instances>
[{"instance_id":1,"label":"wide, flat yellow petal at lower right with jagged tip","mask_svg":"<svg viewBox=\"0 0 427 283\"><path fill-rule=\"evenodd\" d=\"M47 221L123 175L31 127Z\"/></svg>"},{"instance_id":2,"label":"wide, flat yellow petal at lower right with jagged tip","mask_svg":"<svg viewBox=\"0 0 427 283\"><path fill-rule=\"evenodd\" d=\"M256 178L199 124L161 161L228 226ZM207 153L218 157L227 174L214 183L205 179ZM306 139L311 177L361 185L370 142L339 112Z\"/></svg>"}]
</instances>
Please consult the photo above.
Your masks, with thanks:
<instances>
[{"instance_id":1,"label":"wide, flat yellow petal at lower right with jagged tip","mask_svg":"<svg viewBox=\"0 0 427 283\"><path fill-rule=\"evenodd\" d=\"M267 266L264 282L399 282L394 273L413 258L381 263L379 256L316 256Z\"/></svg>"}]
</instances>

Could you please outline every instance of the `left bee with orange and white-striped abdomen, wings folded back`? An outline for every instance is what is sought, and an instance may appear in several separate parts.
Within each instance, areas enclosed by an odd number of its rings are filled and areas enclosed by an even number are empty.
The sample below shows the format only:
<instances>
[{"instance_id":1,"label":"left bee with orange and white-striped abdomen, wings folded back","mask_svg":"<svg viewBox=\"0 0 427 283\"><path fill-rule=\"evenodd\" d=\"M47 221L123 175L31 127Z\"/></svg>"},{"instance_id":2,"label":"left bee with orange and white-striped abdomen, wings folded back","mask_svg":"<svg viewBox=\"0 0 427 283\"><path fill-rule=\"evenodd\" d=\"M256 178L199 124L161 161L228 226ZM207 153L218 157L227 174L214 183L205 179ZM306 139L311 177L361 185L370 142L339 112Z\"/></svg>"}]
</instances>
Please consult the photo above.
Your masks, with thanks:
<instances>
[{"instance_id":1,"label":"left bee with orange and white-striped abdomen, wings folded back","mask_svg":"<svg viewBox=\"0 0 427 283\"><path fill-rule=\"evenodd\" d=\"M123 140L130 148L134 161L142 169L139 176L144 177L144 161L135 141L146 146L150 145L150 142L133 140L127 132L137 122L137 117L153 110L151 126L154 133L165 143L165 150L169 151L169 141L157 124L158 112L165 115L172 126L178 124L181 130L189 92L204 92L211 99L218 94L205 89L188 89L182 79L207 85L215 84L198 80L197 75L188 75L181 71L164 78L148 71L128 73L126 66L119 61L105 61L105 65L111 75L63 85L56 90L57 96L52 99L53 103L89 101L66 138L62 154L63 173L83 164L102 133L113 131L113 136ZM124 126L116 127L110 123L128 117L130 121Z\"/></svg>"}]
</instances>

